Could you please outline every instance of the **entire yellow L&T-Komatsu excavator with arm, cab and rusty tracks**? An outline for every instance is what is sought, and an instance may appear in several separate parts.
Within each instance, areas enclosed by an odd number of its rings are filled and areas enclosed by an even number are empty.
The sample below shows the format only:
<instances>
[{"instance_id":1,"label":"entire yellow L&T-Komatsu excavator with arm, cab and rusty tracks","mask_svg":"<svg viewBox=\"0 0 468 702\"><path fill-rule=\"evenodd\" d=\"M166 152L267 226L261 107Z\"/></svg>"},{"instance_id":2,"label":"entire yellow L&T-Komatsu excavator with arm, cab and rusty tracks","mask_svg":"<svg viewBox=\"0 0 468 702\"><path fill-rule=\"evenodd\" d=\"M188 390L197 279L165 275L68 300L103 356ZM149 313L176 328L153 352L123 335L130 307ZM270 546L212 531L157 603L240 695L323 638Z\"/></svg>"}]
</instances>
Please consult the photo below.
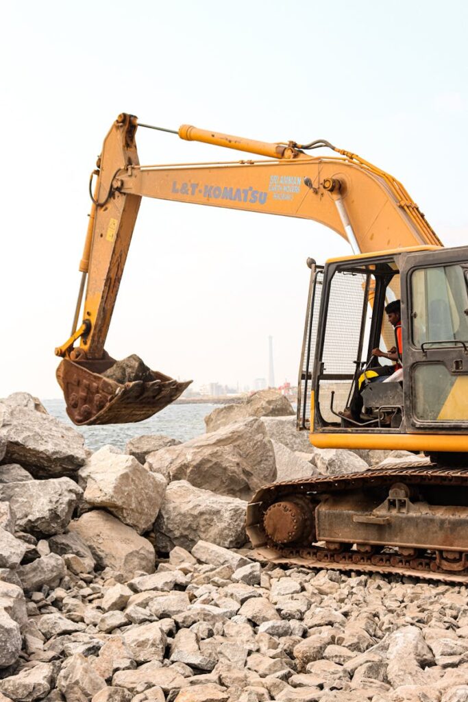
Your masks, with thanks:
<instances>
[{"instance_id":1,"label":"entire yellow L&T-Komatsu excavator with arm, cab and rusty tracks","mask_svg":"<svg viewBox=\"0 0 468 702\"><path fill-rule=\"evenodd\" d=\"M353 255L323 266L307 260L297 428L319 449L415 456L263 487L247 508L255 554L467 583L468 246L443 248L396 178L328 141L264 143L183 125L162 131L247 155L142 166L138 126L158 128L119 115L91 174L72 334L55 350L69 417L76 425L142 420L188 385L149 369L136 380L109 373L116 362L105 339L142 197L319 222L348 241ZM309 153L317 148L334 153ZM367 382L379 364L373 350L394 347L385 314L392 300L401 300L401 373ZM356 392L362 411L352 418Z\"/></svg>"}]
</instances>

